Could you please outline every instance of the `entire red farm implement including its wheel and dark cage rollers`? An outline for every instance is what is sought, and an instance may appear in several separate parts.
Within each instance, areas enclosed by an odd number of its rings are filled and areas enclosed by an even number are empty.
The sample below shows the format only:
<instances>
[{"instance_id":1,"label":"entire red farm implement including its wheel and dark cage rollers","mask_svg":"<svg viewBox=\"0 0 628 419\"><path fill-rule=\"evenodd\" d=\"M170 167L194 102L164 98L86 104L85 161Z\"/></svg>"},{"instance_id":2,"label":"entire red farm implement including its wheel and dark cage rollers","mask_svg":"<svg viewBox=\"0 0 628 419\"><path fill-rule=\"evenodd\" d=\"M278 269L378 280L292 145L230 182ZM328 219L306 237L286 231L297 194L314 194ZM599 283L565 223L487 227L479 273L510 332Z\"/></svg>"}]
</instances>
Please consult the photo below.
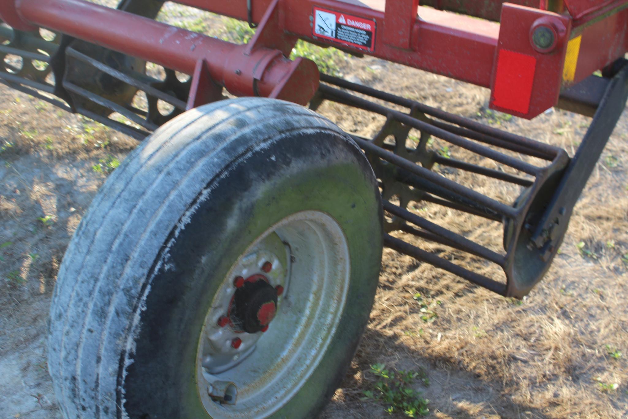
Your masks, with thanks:
<instances>
[{"instance_id":1,"label":"entire red farm implement including its wheel and dark cage rollers","mask_svg":"<svg viewBox=\"0 0 628 419\"><path fill-rule=\"evenodd\" d=\"M0 81L146 138L95 197L58 274L48 365L67 417L317 415L369 318L382 246L524 297L556 255L628 97L627 0L175 3L246 21L255 34L236 45L161 23L158 0L0 4ZM486 87L492 109L524 119L560 107L592 121L570 157L319 73L288 58L298 40ZM146 110L133 104L138 92ZM385 122L372 138L349 135L315 113L323 102ZM480 160L440 155L433 138ZM483 195L437 166L516 196ZM503 251L410 202L495 222Z\"/></svg>"}]
</instances>

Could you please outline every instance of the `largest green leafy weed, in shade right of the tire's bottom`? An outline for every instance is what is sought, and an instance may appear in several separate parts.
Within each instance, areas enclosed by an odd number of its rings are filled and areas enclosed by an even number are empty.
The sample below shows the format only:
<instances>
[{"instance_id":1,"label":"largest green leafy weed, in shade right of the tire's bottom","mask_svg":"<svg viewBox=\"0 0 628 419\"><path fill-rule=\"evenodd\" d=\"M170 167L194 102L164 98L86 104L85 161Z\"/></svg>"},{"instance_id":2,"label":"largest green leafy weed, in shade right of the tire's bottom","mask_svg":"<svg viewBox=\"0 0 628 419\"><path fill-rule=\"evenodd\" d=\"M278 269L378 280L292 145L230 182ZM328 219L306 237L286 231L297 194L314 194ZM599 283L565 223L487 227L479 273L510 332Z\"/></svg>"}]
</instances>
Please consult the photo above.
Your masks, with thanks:
<instances>
[{"instance_id":1,"label":"largest green leafy weed, in shade right of the tire's bottom","mask_svg":"<svg viewBox=\"0 0 628 419\"><path fill-rule=\"evenodd\" d=\"M416 379L420 379L426 386L430 384L425 371L396 371L386 369L385 364L375 364L371 366L370 372L377 381L371 389L364 391L362 400L375 400L384 404L384 410L390 415L403 413L409 418L416 418L430 412L430 401L421 397L421 391L410 387Z\"/></svg>"}]
</instances>

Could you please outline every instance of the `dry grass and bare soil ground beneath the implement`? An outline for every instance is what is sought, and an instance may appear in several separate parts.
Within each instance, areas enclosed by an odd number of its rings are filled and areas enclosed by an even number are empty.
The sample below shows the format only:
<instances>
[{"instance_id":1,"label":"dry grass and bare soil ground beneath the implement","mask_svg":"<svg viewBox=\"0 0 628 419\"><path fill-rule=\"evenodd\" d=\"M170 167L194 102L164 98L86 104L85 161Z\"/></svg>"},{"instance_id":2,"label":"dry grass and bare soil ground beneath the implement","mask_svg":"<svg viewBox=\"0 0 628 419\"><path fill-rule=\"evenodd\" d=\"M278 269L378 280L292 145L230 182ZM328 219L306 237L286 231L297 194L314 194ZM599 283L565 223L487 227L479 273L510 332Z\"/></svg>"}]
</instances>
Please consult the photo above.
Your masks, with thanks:
<instances>
[{"instance_id":1,"label":"dry grass and bare soil ground beneath the implement","mask_svg":"<svg viewBox=\"0 0 628 419\"><path fill-rule=\"evenodd\" d=\"M486 89L374 58L347 58L339 71L570 155L590 124L558 109L533 121L490 112ZM383 122L336 104L318 111L362 136ZM0 85L0 418L60 417L46 366L51 291L82 215L137 144ZM430 147L503 169L439 139ZM444 166L435 170L491 196L519 193ZM501 223L433 204L409 209L499 250ZM484 275L499 274L446 246L394 235ZM424 374L428 379L413 385L437 418L627 417L628 113L575 207L560 254L524 300L499 297L391 249L384 249L379 282L371 321L324 417L387 416L384 405L363 400L377 381L373 364Z\"/></svg>"}]
</instances>

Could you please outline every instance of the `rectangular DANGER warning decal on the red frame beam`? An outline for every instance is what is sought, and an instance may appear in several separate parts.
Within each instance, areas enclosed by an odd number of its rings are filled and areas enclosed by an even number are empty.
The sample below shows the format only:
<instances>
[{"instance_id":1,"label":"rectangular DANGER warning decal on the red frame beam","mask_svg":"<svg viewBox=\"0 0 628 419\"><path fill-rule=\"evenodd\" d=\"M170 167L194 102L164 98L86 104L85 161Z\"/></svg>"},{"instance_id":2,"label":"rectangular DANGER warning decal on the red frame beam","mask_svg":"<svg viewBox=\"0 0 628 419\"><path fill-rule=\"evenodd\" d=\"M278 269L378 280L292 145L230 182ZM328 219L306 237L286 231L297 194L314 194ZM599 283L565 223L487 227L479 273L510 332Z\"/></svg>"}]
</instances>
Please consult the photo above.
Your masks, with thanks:
<instances>
[{"instance_id":1,"label":"rectangular DANGER warning decal on the red frame beam","mask_svg":"<svg viewBox=\"0 0 628 419\"><path fill-rule=\"evenodd\" d=\"M375 21L314 8L314 36L336 41L360 50L375 51Z\"/></svg>"}]
</instances>

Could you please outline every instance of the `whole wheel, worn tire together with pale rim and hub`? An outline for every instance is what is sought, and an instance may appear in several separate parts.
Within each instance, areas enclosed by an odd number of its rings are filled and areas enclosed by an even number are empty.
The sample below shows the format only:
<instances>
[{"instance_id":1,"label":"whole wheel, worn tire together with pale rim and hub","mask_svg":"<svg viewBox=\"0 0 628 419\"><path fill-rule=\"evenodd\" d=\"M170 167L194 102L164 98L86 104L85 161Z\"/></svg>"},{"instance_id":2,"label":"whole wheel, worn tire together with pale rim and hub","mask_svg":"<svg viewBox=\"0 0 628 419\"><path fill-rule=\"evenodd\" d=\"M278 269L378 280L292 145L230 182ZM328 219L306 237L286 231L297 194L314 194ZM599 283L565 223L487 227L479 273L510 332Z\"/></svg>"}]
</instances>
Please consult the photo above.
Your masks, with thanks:
<instances>
[{"instance_id":1,"label":"whole wheel, worn tire together with pale rim and hub","mask_svg":"<svg viewBox=\"0 0 628 419\"><path fill-rule=\"evenodd\" d=\"M50 311L68 418L305 418L369 318L382 204L359 147L274 99L185 112L107 179Z\"/></svg>"}]
</instances>

